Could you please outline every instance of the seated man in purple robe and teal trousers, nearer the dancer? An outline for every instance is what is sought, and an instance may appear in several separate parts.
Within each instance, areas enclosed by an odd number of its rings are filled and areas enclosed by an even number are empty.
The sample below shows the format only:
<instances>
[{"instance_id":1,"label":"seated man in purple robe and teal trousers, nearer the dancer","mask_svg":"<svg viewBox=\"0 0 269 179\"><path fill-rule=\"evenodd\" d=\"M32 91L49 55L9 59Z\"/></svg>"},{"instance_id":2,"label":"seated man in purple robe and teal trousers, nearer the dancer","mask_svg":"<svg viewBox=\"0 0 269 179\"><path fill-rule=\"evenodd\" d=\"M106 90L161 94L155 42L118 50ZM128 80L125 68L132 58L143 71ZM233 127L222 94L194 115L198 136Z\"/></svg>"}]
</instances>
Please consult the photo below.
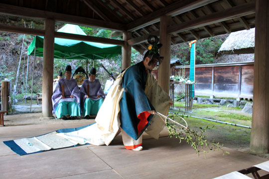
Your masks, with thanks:
<instances>
[{"instance_id":1,"label":"seated man in purple robe and teal trousers, nearer the dancer","mask_svg":"<svg viewBox=\"0 0 269 179\"><path fill-rule=\"evenodd\" d=\"M84 80L81 88L81 110L86 119L90 118L90 115L96 115L103 104L105 94L102 86L96 77L96 69L91 68L89 79Z\"/></svg>"}]
</instances>

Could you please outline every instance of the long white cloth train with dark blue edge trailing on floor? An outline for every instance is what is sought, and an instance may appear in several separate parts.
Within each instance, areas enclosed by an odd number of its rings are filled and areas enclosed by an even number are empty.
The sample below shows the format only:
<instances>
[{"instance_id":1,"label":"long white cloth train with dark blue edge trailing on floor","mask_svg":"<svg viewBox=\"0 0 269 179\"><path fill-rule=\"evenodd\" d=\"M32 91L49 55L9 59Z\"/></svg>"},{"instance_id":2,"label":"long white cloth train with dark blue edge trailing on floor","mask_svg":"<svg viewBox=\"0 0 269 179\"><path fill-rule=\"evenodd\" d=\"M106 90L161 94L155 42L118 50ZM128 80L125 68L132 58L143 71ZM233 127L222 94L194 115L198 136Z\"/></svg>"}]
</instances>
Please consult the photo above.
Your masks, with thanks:
<instances>
[{"instance_id":1,"label":"long white cloth train with dark blue edge trailing on floor","mask_svg":"<svg viewBox=\"0 0 269 179\"><path fill-rule=\"evenodd\" d=\"M4 141L3 143L18 155L27 155L85 144L105 144L97 123L78 128L59 129L44 135Z\"/></svg>"}]
</instances>

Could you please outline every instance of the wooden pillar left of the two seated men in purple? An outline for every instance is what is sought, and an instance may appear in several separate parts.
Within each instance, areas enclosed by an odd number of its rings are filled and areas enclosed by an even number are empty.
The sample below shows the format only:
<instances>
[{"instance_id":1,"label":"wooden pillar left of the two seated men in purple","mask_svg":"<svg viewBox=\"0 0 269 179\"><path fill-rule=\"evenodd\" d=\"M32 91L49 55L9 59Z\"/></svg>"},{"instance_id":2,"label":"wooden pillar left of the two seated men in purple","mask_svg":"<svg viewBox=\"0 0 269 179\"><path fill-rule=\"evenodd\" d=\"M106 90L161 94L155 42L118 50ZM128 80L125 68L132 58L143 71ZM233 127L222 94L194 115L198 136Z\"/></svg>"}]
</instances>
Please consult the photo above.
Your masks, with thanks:
<instances>
[{"instance_id":1,"label":"wooden pillar left of the two seated men in purple","mask_svg":"<svg viewBox=\"0 0 269 179\"><path fill-rule=\"evenodd\" d=\"M42 116L52 116L52 86L54 61L54 28L55 21L45 20L44 52L43 52L43 80L42 80Z\"/></svg>"}]
</instances>

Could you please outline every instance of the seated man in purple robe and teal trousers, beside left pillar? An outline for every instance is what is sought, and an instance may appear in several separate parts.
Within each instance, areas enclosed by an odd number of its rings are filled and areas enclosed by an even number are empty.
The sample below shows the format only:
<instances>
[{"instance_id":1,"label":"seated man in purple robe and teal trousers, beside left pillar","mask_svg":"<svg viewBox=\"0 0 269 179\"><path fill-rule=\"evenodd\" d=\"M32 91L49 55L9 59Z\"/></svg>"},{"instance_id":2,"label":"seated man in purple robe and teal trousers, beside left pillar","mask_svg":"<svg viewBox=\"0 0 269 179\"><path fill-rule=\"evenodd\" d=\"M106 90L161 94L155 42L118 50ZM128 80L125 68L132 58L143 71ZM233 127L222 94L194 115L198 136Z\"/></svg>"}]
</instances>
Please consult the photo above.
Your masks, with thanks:
<instances>
[{"instance_id":1,"label":"seated man in purple robe and teal trousers, beside left pillar","mask_svg":"<svg viewBox=\"0 0 269 179\"><path fill-rule=\"evenodd\" d=\"M66 66L65 78L60 79L52 94L52 113L67 119L67 116L80 116L80 92L75 79L71 79L72 68Z\"/></svg>"}]
</instances>

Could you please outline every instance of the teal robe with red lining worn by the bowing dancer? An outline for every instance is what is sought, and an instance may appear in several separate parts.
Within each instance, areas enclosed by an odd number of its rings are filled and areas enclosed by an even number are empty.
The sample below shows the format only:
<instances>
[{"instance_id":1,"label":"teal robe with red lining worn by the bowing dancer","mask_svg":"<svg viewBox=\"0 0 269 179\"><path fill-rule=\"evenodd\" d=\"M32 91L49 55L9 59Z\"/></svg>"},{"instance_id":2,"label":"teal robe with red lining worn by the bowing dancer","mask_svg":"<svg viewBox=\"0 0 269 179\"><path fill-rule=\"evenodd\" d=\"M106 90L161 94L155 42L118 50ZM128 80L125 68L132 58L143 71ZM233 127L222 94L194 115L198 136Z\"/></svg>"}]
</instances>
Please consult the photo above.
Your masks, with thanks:
<instances>
[{"instance_id":1,"label":"teal robe with red lining worn by the bowing dancer","mask_svg":"<svg viewBox=\"0 0 269 179\"><path fill-rule=\"evenodd\" d=\"M155 110L144 92L147 73L150 72L146 71L143 62L139 62L127 69L123 77L121 127L134 140L140 137L153 117L147 111Z\"/></svg>"}]
</instances>

